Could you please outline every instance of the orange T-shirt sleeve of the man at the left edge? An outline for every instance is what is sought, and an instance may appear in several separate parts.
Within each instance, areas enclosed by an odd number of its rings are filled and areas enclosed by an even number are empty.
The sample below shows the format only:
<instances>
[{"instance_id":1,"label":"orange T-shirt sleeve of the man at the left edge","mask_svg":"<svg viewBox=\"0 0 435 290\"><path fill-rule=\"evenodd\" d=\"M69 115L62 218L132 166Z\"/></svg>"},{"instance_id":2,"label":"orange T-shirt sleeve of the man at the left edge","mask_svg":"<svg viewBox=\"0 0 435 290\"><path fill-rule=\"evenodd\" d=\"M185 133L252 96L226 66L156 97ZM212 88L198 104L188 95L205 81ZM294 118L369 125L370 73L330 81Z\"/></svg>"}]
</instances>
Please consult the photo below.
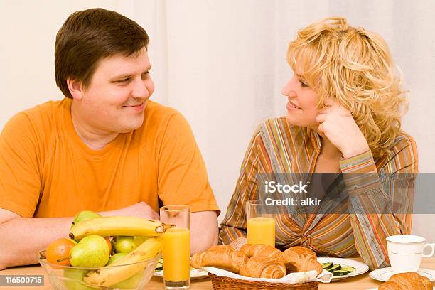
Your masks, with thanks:
<instances>
[{"instance_id":1,"label":"orange T-shirt sleeve of the man at the left edge","mask_svg":"<svg viewBox=\"0 0 435 290\"><path fill-rule=\"evenodd\" d=\"M41 191L38 152L30 119L16 114L0 135L0 208L33 216Z\"/></svg>"}]
</instances>

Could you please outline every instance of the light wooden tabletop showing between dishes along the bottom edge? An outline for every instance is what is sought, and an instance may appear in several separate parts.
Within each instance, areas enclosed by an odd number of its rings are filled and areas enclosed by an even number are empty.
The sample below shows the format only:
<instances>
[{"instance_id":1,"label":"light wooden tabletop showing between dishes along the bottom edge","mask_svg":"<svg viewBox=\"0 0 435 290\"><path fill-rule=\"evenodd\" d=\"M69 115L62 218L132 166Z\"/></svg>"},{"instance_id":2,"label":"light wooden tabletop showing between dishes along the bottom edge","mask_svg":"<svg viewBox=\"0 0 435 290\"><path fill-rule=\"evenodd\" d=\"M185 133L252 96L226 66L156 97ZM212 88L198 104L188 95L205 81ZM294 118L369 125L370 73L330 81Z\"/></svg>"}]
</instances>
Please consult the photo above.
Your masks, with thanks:
<instances>
[{"instance_id":1,"label":"light wooden tabletop showing between dishes along the bottom edge","mask_svg":"<svg viewBox=\"0 0 435 290\"><path fill-rule=\"evenodd\" d=\"M362 261L360 258L355 258L358 261ZM421 268L426 269L435 269L435 257L431 258L423 258L421 262ZM50 281L48 281L48 276L45 274L43 268L38 265L33 266L25 266L25 267L14 267L9 269L4 269L0 271L0 275L45 275L45 286L0 286L0 289L8 289L8 290L28 290L28 289L35 289L35 290L45 290L45 289L52 289L50 285ZM368 272L365 274L362 274L360 276L351 277L348 279L344 279L341 281L336 281L329 284L319 284L318 289L319 290L328 290L328 289L352 289L352 290L366 290L370 288L376 288L379 286L382 282L376 281L370 278L368 275ZM435 285L435 284L434 284ZM161 278L153 277L149 284L146 285L145 289L147 290L156 290L156 289L163 289L163 280ZM212 290L211 281L209 278L207 279L200 279L200 280L194 280L192 281L190 289L193 290Z\"/></svg>"}]
</instances>

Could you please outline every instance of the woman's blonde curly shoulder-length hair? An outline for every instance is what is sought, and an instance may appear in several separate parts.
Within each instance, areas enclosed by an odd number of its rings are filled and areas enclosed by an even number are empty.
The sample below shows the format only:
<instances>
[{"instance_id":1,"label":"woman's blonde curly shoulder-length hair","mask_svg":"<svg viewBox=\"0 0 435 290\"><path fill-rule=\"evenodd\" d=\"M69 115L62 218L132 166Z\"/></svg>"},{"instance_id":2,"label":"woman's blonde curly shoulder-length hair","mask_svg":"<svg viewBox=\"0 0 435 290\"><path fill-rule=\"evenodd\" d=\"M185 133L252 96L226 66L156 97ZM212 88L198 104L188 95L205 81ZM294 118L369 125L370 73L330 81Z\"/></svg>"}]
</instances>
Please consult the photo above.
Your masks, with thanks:
<instances>
[{"instance_id":1,"label":"woman's blonde curly shoulder-length hair","mask_svg":"<svg viewBox=\"0 0 435 290\"><path fill-rule=\"evenodd\" d=\"M287 61L318 94L319 109L331 97L352 113L373 156L389 151L408 103L381 36L348 26L345 18L326 18L298 32Z\"/></svg>"}]
</instances>

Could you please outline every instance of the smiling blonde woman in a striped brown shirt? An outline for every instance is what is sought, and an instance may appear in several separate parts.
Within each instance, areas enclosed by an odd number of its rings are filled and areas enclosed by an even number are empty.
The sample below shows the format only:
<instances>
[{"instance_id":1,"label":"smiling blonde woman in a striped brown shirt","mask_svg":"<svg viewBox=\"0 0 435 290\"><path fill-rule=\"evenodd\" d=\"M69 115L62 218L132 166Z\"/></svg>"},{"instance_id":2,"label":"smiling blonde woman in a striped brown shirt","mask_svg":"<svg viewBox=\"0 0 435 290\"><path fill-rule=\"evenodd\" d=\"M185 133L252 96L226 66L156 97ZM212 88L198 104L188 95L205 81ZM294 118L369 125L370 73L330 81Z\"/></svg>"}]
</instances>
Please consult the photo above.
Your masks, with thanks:
<instances>
[{"instance_id":1,"label":"smiling blonde woman in a striped brown shirt","mask_svg":"<svg viewBox=\"0 0 435 290\"><path fill-rule=\"evenodd\" d=\"M257 173L341 173L344 186L335 191L348 193L351 214L276 215L276 247L359 253L371 269L386 267L385 238L409 234L411 215L409 203L401 213L385 205L412 193L394 184L417 173L415 141L400 130L407 103L390 50L377 34L327 18L299 31L287 61L294 71L282 89L287 115L254 132L220 243L246 236L245 203L259 197Z\"/></svg>"}]
</instances>

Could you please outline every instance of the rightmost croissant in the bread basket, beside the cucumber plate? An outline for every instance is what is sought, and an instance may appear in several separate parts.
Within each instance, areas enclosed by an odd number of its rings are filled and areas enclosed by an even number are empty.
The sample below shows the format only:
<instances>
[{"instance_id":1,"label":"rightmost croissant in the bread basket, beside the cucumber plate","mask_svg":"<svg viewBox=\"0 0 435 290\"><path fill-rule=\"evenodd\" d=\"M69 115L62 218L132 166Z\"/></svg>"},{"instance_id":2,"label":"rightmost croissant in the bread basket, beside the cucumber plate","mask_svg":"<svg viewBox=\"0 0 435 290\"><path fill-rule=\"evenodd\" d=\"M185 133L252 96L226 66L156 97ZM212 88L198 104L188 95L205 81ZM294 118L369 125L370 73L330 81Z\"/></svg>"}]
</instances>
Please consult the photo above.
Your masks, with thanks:
<instances>
[{"instance_id":1,"label":"rightmost croissant in the bread basket, beside the cucumber plate","mask_svg":"<svg viewBox=\"0 0 435 290\"><path fill-rule=\"evenodd\" d=\"M286 264L287 272L307 272L316 270L317 274L323 271L322 265L317 261L316 253L306 247L289 247L284 252L277 252L274 257Z\"/></svg>"}]
</instances>

